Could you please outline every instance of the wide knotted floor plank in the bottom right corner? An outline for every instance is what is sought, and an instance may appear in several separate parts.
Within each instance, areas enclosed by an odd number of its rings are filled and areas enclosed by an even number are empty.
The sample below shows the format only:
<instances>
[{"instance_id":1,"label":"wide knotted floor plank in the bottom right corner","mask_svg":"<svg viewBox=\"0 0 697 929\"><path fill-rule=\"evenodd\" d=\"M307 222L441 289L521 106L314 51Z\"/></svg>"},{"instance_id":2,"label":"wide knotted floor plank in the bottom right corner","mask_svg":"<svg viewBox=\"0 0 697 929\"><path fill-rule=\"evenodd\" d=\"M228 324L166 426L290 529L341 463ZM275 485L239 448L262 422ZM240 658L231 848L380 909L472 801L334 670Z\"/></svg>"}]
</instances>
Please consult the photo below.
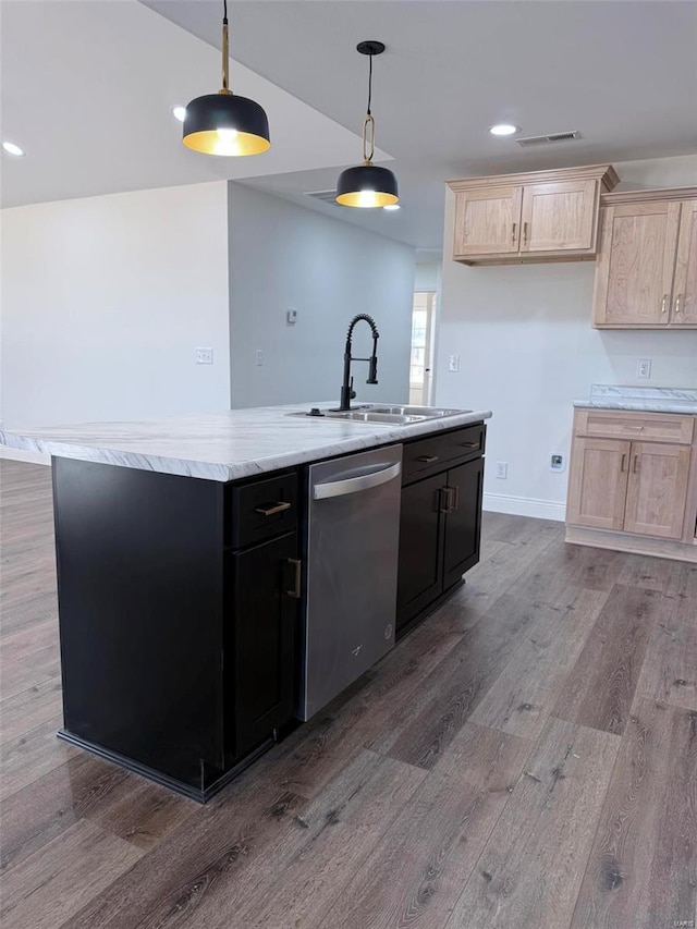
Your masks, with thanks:
<instances>
[{"instance_id":1,"label":"wide knotted floor plank in the bottom right corner","mask_svg":"<svg viewBox=\"0 0 697 929\"><path fill-rule=\"evenodd\" d=\"M573 929L694 924L696 849L697 712L637 699Z\"/></svg>"}]
</instances>

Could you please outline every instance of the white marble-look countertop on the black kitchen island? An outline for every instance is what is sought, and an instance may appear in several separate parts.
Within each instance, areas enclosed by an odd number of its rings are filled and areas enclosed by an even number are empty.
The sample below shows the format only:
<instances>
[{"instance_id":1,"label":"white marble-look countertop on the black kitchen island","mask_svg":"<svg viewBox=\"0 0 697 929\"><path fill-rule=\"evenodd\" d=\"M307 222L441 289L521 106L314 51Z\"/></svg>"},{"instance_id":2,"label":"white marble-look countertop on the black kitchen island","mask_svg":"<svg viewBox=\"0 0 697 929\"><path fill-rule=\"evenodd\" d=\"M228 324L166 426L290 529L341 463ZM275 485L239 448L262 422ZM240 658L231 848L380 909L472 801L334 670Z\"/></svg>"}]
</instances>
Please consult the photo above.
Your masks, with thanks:
<instances>
[{"instance_id":1,"label":"white marble-look countertop on the black kitchen island","mask_svg":"<svg viewBox=\"0 0 697 929\"><path fill-rule=\"evenodd\" d=\"M488 410L464 411L455 416L407 426L388 426L289 415L306 413L310 406L329 410L332 404L262 406L133 423L0 430L0 445L225 481L401 442L491 417Z\"/></svg>"}]
</instances>

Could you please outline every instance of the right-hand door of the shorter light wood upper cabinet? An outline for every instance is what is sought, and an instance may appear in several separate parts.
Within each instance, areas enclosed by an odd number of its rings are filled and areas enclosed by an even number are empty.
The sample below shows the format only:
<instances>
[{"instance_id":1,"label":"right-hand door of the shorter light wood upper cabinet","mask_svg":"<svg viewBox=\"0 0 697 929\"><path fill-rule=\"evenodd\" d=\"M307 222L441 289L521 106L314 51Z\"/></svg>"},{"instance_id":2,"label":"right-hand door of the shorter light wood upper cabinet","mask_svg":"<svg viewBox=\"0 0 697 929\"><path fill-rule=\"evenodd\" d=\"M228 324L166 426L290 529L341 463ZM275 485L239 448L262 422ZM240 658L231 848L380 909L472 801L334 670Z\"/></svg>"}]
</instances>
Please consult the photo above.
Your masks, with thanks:
<instances>
[{"instance_id":1,"label":"right-hand door of the shorter light wood upper cabinet","mask_svg":"<svg viewBox=\"0 0 697 929\"><path fill-rule=\"evenodd\" d=\"M523 191L521 252L590 252L598 181L529 184Z\"/></svg>"}]
</instances>

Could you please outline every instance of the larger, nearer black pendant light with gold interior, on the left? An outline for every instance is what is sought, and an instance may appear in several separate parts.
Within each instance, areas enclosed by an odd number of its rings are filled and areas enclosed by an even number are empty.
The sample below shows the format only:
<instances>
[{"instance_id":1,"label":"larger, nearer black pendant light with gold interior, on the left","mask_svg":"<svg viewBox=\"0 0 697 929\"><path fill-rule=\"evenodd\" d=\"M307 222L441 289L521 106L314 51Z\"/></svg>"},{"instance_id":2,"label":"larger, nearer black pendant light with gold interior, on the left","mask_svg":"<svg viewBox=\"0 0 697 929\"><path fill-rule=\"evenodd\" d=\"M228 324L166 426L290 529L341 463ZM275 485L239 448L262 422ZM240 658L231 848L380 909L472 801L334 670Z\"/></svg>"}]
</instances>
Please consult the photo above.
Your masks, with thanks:
<instances>
[{"instance_id":1,"label":"larger, nearer black pendant light with gold interior, on the left","mask_svg":"<svg viewBox=\"0 0 697 929\"><path fill-rule=\"evenodd\" d=\"M196 97L186 107L182 142L204 155L260 155L271 147L264 109L228 88L228 0L222 17L222 89Z\"/></svg>"}]
</instances>

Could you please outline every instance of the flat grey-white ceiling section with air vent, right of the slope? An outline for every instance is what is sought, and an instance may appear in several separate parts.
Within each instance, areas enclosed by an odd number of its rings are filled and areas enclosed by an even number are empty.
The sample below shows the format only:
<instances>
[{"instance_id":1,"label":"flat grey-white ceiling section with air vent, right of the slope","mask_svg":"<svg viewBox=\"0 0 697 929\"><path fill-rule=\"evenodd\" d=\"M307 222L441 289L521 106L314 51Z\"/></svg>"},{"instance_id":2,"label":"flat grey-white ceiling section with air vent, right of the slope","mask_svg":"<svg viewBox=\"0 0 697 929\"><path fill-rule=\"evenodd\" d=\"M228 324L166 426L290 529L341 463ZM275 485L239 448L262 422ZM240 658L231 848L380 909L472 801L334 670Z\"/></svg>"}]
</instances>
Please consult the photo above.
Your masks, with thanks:
<instances>
[{"instance_id":1,"label":"flat grey-white ceiling section with air vent, right of the slope","mask_svg":"<svg viewBox=\"0 0 697 929\"><path fill-rule=\"evenodd\" d=\"M217 41L218 0L144 0ZM317 208L421 248L442 241L448 178L697 151L697 3L692 0L231 0L234 56L342 125L358 129L377 38L378 140L396 159L403 209ZM567 145L522 149L524 135L579 130ZM326 170L255 186L306 203Z\"/></svg>"}]
</instances>

